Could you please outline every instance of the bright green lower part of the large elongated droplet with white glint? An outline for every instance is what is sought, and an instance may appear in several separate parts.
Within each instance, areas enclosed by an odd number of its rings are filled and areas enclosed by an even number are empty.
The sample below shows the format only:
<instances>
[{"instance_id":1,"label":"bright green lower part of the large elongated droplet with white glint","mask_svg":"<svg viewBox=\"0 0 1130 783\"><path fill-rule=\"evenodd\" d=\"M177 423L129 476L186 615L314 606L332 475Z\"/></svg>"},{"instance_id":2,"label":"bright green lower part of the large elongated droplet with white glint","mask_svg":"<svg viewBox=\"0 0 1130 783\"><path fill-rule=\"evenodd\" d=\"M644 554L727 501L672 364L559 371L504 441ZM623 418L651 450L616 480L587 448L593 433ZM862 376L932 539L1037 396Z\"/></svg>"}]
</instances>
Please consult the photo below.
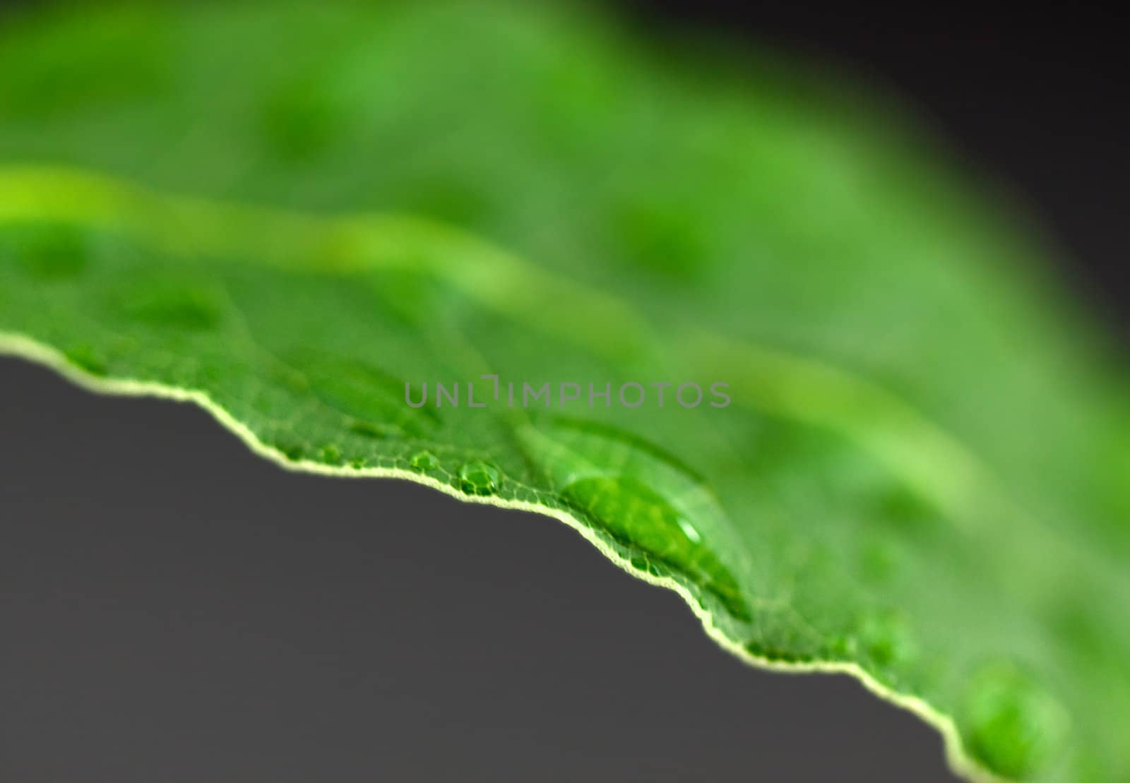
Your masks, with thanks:
<instances>
[{"instance_id":1,"label":"bright green lower part of the large elongated droplet with white glint","mask_svg":"<svg viewBox=\"0 0 1130 783\"><path fill-rule=\"evenodd\" d=\"M718 598L734 617L750 619L741 588L698 531L661 495L632 477L593 477L568 485L562 497L649 563L677 572ZM634 563L633 563L634 565Z\"/></svg>"}]
</instances>

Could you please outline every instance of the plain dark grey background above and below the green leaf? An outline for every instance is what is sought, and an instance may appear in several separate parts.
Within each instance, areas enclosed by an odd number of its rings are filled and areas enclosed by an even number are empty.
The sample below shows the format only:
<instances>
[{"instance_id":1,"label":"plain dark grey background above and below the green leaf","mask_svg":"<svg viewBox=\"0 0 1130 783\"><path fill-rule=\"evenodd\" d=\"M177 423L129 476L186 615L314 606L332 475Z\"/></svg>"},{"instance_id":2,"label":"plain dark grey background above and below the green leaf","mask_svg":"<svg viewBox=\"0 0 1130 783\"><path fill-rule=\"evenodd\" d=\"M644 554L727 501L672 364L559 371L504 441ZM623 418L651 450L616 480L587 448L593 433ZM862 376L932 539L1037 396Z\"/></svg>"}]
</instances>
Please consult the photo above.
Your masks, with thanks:
<instances>
[{"instance_id":1,"label":"plain dark grey background above and below the green leaf","mask_svg":"<svg viewBox=\"0 0 1130 783\"><path fill-rule=\"evenodd\" d=\"M631 6L903 95L1130 332L1112 20ZM745 667L547 517L286 473L195 408L0 359L0 781L723 778L953 780L913 716Z\"/></svg>"}]
</instances>

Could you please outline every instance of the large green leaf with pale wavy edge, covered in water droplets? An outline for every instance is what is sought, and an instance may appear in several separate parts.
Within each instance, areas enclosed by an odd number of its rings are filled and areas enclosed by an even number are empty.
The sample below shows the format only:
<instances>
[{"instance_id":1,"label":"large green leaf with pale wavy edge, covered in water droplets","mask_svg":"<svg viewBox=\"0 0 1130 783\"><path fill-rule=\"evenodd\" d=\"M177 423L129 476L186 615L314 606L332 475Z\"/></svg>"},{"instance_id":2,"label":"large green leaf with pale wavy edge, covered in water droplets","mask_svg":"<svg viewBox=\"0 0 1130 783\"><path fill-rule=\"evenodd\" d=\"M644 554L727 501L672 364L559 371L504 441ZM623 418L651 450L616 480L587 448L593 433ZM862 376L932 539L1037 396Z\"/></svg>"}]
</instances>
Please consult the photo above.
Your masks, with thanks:
<instances>
[{"instance_id":1,"label":"large green leaf with pale wavy edge, covered in water droplets","mask_svg":"<svg viewBox=\"0 0 1130 783\"><path fill-rule=\"evenodd\" d=\"M469 2L11 20L0 347L560 519L970 777L1127 780L1122 358L889 106L718 51Z\"/></svg>"}]
</instances>

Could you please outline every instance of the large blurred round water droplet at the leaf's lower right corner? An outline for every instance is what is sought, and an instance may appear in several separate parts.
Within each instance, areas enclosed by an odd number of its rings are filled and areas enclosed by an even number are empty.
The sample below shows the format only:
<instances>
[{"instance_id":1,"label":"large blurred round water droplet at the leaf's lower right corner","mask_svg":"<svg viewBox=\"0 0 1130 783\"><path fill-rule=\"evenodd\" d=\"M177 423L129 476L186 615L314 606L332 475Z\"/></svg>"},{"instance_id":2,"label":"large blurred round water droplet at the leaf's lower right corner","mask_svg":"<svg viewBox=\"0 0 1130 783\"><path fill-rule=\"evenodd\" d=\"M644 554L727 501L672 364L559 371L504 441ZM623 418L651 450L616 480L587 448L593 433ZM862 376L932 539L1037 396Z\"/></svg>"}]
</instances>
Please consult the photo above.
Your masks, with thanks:
<instances>
[{"instance_id":1,"label":"large blurred round water droplet at the leaf's lower right corner","mask_svg":"<svg viewBox=\"0 0 1130 783\"><path fill-rule=\"evenodd\" d=\"M963 715L971 752L1008 778L1038 773L1062 746L1067 729L1060 703L1007 662L982 667L971 678Z\"/></svg>"}]
</instances>

